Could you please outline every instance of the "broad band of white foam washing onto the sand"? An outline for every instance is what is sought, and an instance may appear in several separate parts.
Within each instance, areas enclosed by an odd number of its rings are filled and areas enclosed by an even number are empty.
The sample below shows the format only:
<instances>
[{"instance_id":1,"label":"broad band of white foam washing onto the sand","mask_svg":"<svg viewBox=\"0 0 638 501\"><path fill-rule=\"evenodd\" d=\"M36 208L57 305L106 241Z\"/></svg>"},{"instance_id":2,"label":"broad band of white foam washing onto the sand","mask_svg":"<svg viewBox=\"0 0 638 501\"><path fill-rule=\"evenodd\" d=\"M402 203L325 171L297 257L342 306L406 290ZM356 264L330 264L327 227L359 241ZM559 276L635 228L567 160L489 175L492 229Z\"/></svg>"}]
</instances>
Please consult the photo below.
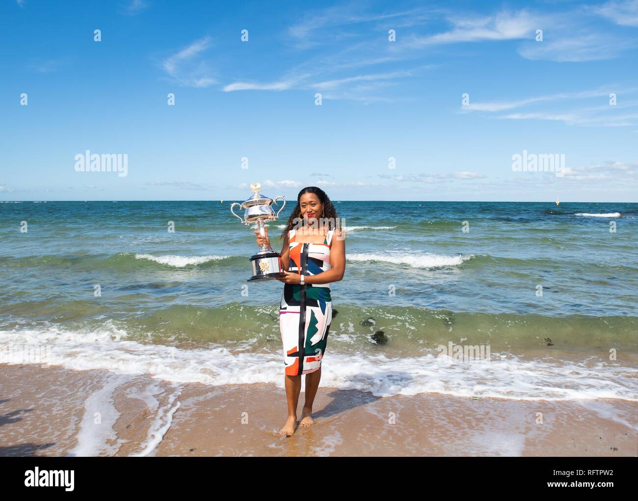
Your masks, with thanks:
<instances>
[{"instance_id":1,"label":"broad band of white foam washing onto the sand","mask_svg":"<svg viewBox=\"0 0 638 501\"><path fill-rule=\"evenodd\" d=\"M237 352L230 345L180 349L142 344L107 322L96 331L66 331L59 327L0 331L0 363L49 363L73 370L105 369L117 375L150 374L175 383L207 385L267 382L283 386L281 354ZM49 346L43 358L24 359L26 348ZM25 348L22 351L18 348ZM369 391L375 396L443 393L514 400L615 398L638 401L638 370L590 357L523 359L494 354L490 363L452 363L436 351L420 357L328 352L322 384L339 389ZM108 391L107 391L108 394ZM96 404L101 401L96 400ZM174 401L158 415L161 433L174 412ZM634 425L635 426L635 425ZM638 430L638 426L636 426ZM102 437L103 438L103 437ZM103 442L103 440L98 440ZM154 440L149 440L152 446ZM83 452L93 452L91 440Z\"/></svg>"}]
</instances>

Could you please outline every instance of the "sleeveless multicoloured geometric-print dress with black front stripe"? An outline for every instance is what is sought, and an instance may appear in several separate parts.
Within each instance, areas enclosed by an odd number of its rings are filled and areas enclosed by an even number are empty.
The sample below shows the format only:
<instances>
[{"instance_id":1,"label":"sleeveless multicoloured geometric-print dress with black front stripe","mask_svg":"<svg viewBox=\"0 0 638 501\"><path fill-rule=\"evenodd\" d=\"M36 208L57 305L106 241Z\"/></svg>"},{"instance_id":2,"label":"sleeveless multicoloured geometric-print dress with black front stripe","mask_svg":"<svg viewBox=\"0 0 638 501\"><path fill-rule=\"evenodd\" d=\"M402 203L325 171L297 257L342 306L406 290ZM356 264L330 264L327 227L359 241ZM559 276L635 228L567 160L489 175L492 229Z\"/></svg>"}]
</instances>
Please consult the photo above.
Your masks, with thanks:
<instances>
[{"instance_id":1,"label":"sleeveless multicoloured geometric-print dress with black front stripe","mask_svg":"<svg viewBox=\"0 0 638 501\"><path fill-rule=\"evenodd\" d=\"M288 231L288 271L312 276L329 270L334 230L327 232L323 244L296 242L296 232L296 229ZM321 367L331 321L329 284L284 284L279 306L279 329L287 376L308 374Z\"/></svg>"}]
</instances>

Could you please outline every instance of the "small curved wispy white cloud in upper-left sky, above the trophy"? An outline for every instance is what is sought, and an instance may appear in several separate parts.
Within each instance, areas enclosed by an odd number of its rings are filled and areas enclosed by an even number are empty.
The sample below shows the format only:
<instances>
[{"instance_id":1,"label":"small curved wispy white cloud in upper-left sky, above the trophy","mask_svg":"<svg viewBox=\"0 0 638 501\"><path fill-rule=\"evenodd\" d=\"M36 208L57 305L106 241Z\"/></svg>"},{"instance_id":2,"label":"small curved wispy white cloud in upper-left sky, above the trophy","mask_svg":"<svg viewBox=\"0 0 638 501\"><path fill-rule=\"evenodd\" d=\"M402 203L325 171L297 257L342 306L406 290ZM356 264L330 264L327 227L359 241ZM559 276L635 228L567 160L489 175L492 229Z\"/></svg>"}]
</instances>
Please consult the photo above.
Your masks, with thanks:
<instances>
[{"instance_id":1,"label":"small curved wispy white cloud in upper-left sky, above the trophy","mask_svg":"<svg viewBox=\"0 0 638 501\"><path fill-rule=\"evenodd\" d=\"M196 40L188 47L167 57L162 63L164 70L177 84L185 87L208 87L217 82L211 75L204 61L197 60L201 54L211 46L211 39L207 36Z\"/></svg>"}]
</instances>

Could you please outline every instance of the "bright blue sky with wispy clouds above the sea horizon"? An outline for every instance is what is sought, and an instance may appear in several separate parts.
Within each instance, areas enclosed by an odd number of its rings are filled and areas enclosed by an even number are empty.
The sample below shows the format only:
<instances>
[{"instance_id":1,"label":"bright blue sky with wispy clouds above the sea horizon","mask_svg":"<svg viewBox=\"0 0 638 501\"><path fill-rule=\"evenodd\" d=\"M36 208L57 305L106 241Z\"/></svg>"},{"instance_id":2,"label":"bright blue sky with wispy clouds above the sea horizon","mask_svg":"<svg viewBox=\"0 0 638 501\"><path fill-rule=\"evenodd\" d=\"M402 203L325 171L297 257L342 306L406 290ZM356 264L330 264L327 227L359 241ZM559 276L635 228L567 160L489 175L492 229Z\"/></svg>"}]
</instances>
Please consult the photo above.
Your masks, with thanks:
<instances>
[{"instance_id":1,"label":"bright blue sky with wispy clouds above the sea horizon","mask_svg":"<svg viewBox=\"0 0 638 501\"><path fill-rule=\"evenodd\" d=\"M0 16L3 200L244 200L258 181L289 200L638 201L638 1L6 0ZM127 154L127 176L77 172L86 150ZM523 151L564 154L565 176L514 172Z\"/></svg>"}]
</instances>

